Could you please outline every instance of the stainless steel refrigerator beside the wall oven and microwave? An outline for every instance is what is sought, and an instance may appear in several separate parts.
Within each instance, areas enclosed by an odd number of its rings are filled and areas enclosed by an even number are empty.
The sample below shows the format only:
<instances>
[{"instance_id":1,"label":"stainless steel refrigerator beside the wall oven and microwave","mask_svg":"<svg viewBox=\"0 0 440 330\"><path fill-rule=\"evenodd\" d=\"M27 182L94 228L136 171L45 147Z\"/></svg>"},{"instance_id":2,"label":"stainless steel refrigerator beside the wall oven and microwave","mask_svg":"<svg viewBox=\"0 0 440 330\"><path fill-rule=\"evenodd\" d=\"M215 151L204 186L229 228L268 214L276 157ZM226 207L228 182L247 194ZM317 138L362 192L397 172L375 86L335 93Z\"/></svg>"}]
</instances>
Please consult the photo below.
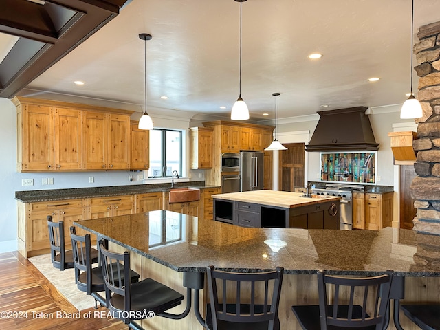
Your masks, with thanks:
<instances>
[{"instance_id":1,"label":"stainless steel refrigerator beside the wall oven and microwave","mask_svg":"<svg viewBox=\"0 0 440 330\"><path fill-rule=\"evenodd\" d=\"M264 153L261 151L240 152L241 191L263 189Z\"/></svg>"}]
</instances>

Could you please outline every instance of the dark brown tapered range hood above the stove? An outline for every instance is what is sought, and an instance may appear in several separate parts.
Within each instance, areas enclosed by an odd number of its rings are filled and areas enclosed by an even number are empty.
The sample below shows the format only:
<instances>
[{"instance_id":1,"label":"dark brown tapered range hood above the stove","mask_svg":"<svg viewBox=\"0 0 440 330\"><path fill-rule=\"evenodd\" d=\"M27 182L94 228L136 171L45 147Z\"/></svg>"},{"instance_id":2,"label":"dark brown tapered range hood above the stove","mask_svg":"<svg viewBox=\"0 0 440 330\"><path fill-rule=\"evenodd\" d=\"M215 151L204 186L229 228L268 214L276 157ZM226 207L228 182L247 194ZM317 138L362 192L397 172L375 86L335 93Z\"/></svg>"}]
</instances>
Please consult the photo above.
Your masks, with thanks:
<instances>
[{"instance_id":1,"label":"dark brown tapered range hood above the stove","mask_svg":"<svg viewBox=\"0 0 440 330\"><path fill-rule=\"evenodd\" d=\"M320 119L306 151L377 150L367 107L318 111Z\"/></svg>"}]
</instances>

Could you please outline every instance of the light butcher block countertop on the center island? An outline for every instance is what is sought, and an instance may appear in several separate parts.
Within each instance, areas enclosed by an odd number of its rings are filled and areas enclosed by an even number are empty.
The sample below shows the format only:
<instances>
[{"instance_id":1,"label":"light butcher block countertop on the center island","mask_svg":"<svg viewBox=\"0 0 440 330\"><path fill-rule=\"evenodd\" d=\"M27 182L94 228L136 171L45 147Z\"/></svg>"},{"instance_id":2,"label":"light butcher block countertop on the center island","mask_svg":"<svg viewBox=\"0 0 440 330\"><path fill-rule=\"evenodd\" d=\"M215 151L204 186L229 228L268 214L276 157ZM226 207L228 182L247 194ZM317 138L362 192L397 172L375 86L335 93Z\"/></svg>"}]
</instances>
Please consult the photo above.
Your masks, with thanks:
<instances>
[{"instance_id":1,"label":"light butcher block countertop on the center island","mask_svg":"<svg viewBox=\"0 0 440 330\"><path fill-rule=\"evenodd\" d=\"M281 208L298 208L300 206L326 203L327 201L339 201L341 197L311 195L311 198L303 197L303 192L288 192L275 190L254 190L243 192L230 192L228 194L212 195L214 199L228 201L243 201Z\"/></svg>"}]
</instances>

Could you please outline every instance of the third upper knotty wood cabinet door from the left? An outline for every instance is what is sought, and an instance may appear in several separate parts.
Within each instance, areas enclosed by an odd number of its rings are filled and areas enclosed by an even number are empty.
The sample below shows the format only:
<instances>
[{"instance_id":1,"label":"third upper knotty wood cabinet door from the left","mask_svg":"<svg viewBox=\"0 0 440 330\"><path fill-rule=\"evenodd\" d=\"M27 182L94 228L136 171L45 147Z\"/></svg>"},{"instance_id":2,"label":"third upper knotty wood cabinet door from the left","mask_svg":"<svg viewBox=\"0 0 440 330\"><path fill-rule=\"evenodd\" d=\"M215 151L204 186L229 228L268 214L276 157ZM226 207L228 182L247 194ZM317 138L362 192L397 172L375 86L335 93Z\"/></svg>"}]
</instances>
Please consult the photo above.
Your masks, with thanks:
<instances>
[{"instance_id":1,"label":"third upper knotty wood cabinet door from the left","mask_svg":"<svg viewBox=\"0 0 440 330\"><path fill-rule=\"evenodd\" d=\"M107 169L105 114L83 113L83 163L86 170Z\"/></svg>"}]
</instances>

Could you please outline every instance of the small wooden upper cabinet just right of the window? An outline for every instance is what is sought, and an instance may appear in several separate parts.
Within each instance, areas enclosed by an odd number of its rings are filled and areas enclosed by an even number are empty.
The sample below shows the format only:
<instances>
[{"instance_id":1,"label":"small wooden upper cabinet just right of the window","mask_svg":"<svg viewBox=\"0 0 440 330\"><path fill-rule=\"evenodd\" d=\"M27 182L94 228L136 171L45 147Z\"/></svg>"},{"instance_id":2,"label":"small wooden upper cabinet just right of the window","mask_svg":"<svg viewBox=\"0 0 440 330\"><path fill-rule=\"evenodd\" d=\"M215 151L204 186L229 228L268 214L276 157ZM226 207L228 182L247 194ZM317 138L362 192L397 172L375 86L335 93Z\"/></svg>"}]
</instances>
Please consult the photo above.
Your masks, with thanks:
<instances>
[{"instance_id":1,"label":"small wooden upper cabinet just right of the window","mask_svg":"<svg viewBox=\"0 0 440 330\"><path fill-rule=\"evenodd\" d=\"M206 127L190 128L190 168L192 170L212 168L212 131Z\"/></svg>"}]
</instances>

